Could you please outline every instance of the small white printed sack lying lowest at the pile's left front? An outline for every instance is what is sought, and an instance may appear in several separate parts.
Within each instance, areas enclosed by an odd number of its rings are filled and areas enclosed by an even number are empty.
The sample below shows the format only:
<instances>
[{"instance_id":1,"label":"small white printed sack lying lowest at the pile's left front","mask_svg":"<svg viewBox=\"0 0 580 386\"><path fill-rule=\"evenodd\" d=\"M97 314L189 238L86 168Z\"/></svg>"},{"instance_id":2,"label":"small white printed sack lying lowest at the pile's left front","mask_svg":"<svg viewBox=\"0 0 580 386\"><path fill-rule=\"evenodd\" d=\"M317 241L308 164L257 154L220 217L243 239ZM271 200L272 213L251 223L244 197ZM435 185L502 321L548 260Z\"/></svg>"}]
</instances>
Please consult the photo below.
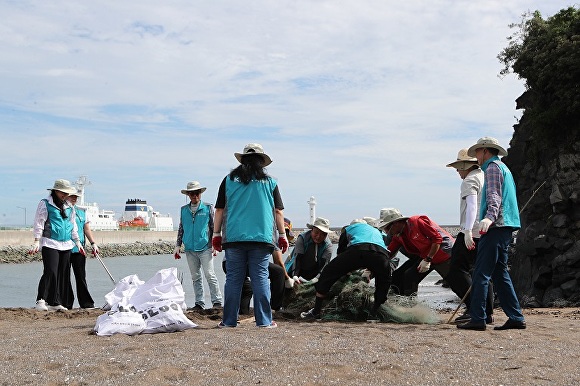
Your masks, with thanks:
<instances>
[{"instance_id":1,"label":"small white printed sack lying lowest at the pile's left front","mask_svg":"<svg viewBox=\"0 0 580 386\"><path fill-rule=\"evenodd\" d=\"M115 310L108 311L97 318L94 331L99 336L137 335L146 327L145 320L134 307L117 305Z\"/></svg>"}]
</instances>

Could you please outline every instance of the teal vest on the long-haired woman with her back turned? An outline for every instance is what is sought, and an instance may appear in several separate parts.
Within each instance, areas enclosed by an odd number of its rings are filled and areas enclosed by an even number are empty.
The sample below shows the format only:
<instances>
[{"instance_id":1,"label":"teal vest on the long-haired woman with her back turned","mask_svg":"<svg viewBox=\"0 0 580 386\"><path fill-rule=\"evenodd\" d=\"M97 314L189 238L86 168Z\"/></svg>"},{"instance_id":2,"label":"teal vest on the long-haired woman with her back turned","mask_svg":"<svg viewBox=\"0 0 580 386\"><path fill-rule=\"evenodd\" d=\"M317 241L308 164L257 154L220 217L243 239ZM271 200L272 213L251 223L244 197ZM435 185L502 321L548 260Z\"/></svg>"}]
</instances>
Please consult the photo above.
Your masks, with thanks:
<instances>
[{"instance_id":1,"label":"teal vest on the long-haired woman with her back turned","mask_svg":"<svg viewBox=\"0 0 580 386\"><path fill-rule=\"evenodd\" d=\"M245 185L226 177L222 243L261 242L276 245L274 189L270 177Z\"/></svg>"}]
</instances>

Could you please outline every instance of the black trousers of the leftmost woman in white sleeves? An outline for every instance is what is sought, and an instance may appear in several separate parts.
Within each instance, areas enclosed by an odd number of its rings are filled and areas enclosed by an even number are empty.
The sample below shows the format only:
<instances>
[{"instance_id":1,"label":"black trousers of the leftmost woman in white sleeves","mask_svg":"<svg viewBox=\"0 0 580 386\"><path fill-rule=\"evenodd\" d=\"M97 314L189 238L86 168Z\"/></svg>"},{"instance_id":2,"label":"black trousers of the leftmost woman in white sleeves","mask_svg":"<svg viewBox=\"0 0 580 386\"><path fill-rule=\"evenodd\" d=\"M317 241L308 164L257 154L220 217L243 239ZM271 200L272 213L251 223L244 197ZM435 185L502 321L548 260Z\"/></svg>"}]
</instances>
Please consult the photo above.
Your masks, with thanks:
<instances>
[{"instance_id":1,"label":"black trousers of the leftmost woman in white sleeves","mask_svg":"<svg viewBox=\"0 0 580 386\"><path fill-rule=\"evenodd\" d=\"M36 300L44 299L50 306L58 306L67 300L70 285L70 250L59 251L42 247L43 271L38 283Z\"/></svg>"}]
</instances>

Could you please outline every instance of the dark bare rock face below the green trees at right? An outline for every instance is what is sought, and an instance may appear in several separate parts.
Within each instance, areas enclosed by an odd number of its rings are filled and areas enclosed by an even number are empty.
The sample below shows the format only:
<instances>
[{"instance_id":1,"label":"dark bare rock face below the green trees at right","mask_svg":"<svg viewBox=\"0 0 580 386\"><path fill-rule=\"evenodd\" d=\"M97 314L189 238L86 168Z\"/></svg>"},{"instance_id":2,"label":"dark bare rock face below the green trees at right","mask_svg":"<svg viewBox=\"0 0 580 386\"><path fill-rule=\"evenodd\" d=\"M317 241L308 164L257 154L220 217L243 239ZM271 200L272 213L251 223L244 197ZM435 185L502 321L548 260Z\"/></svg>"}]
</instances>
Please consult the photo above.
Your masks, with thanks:
<instances>
[{"instance_id":1,"label":"dark bare rock face below the green trees at right","mask_svg":"<svg viewBox=\"0 0 580 386\"><path fill-rule=\"evenodd\" d=\"M525 122L514 128L503 161L523 209L510 256L516 293L524 307L579 306L580 130L552 142L534 138Z\"/></svg>"}]
</instances>

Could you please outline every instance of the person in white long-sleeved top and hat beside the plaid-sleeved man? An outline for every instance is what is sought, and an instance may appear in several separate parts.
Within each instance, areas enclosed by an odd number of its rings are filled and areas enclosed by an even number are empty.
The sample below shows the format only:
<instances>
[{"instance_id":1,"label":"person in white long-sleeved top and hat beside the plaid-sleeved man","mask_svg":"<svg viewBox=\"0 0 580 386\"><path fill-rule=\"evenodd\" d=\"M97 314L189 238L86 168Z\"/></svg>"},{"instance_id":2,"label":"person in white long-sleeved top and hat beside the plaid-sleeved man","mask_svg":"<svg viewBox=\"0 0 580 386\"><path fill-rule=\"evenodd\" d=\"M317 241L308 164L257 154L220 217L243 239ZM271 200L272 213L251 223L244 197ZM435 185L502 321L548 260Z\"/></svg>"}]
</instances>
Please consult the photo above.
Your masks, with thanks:
<instances>
[{"instance_id":1,"label":"person in white long-sleeved top and hat beside the plaid-sleeved man","mask_svg":"<svg viewBox=\"0 0 580 386\"><path fill-rule=\"evenodd\" d=\"M467 155L467 149L459 150L457 160L447 167L455 168L461 177L459 196L459 225L461 230L451 249L451 267L445 278L453 292L461 299L471 288L471 270L477 255L479 243L479 202L483 188L483 171L477 165L477 159ZM471 296L465 296L466 311L455 319L456 323L465 323L471 319L469 306ZM486 314L489 322L493 321L493 286L487 291Z\"/></svg>"}]
</instances>

